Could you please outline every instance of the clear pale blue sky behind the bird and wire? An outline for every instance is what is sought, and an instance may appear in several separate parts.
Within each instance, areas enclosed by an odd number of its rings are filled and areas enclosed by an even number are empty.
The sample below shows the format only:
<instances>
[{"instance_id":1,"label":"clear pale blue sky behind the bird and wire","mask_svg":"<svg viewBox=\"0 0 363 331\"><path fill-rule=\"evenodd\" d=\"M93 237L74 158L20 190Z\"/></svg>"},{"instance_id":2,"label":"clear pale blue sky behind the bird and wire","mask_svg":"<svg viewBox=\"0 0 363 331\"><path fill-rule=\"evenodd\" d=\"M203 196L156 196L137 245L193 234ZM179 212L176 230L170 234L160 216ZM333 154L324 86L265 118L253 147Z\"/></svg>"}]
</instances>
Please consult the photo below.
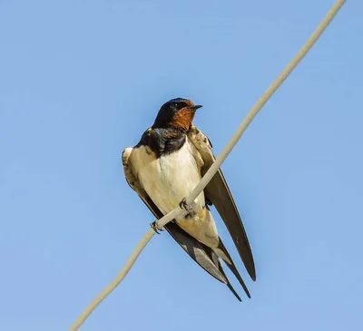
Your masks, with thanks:
<instances>
[{"instance_id":1,"label":"clear pale blue sky behind the bird and wire","mask_svg":"<svg viewBox=\"0 0 363 331\"><path fill-rule=\"evenodd\" d=\"M120 154L177 96L218 154L334 1L0 2L0 329L58 331L153 220ZM256 261L240 304L163 233L83 330L363 329L363 5L223 164Z\"/></svg>"}]
</instances>

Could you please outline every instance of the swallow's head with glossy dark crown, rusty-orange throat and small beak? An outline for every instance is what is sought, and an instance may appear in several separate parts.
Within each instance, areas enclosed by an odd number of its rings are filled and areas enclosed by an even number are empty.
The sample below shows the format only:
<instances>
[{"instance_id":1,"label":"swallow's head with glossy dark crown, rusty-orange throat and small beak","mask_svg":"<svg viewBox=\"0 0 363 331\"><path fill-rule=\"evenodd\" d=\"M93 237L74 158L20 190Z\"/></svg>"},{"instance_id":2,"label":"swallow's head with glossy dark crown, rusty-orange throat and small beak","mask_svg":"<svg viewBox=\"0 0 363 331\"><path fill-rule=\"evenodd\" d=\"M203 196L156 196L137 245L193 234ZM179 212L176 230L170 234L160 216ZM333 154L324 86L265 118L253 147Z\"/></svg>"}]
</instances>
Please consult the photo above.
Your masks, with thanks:
<instances>
[{"instance_id":1,"label":"swallow's head with glossy dark crown, rusty-orange throat and small beak","mask_svg":"<svg viewBox=\"0 0 363 331\"><path fill-rule=\"evenodd\" d=\"M174 128L189 131L195 111L201 108L187 99L176 98L162 105L152 128Z\"/></svg>"}]
</instances>

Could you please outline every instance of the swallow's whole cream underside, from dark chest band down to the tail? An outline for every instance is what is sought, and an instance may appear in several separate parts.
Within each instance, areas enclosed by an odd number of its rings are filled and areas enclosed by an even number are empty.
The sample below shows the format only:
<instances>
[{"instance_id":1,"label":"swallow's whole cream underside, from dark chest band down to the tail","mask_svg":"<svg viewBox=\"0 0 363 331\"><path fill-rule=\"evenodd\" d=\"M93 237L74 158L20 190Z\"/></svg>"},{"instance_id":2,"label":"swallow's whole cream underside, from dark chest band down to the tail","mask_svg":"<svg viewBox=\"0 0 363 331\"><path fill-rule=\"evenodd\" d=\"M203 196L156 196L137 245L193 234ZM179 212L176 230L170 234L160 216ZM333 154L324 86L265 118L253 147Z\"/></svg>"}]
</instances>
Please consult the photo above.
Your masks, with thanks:
<instances>
[{"instance_id":1,"label":"swallow's whole cream underside, from dark chest band down to the tail","mask_svg":"<svg viewBox=\"0 0 363 331\"><path fill-rule=\"evenodd\" d=\"M147 153L145 147L132 151L132 167L142 188L152 198L155 205L167 214L179 206L201 180L201 164L196 161L191 142L186 141L179 151L163 155L159 159ZM197 160L199 154L196 155ZM205 207L204 192L192 204L191 218L183 215L176 221L195 239L209 247L218 245L218 234L210 210Z\"/></svg>"}]
</instances>

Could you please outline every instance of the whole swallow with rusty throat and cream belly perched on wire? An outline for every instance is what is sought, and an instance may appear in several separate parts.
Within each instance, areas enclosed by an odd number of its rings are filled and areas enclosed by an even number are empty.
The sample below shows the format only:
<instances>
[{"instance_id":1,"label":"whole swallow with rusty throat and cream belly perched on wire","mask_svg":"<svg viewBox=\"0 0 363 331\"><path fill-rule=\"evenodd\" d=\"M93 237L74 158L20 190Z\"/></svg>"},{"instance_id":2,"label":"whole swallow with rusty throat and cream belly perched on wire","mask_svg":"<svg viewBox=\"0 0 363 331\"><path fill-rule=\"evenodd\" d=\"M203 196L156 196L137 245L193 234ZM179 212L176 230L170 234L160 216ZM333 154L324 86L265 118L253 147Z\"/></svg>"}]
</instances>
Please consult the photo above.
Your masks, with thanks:
<instances>
[{"instance_id":1,"label":"whole swallow with rusty throat and cream belly perched on wire","mask_svg":"<svg viewBox=\"0 0 363 331\"><path fill-rule=\"evenodd\" d=\"M191 206L181 204L215 160L211 141L191 123L199 108L201 105L182 98L165 102L139 143L123 150L123 170L132 190L156 219L178 206L185 209L164 229L201 268L226 284L240 300L221 261L231 269L248 297L250 292L218 235L209 206L214 205L219 212L252 280L256 280L256 271L246 231L221 170Z\"/></svg>"}]
</instances>

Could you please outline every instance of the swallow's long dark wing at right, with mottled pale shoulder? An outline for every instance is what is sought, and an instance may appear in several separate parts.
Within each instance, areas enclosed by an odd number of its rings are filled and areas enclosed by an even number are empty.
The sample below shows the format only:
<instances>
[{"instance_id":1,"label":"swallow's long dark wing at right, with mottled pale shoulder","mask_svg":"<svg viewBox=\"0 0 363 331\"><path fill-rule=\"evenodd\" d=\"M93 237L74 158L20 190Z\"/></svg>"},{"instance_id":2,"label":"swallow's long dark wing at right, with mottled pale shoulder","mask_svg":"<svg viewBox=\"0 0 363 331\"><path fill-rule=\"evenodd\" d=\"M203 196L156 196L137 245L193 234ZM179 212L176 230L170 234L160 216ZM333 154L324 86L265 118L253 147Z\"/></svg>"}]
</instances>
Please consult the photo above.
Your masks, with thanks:
<instances>
[{"instance_id":1,"label":"swallow's long dark wing at right, with mottled pale shoulder","mask_svg":"<svg viewBox=\"0 0 363 331\"><path fill-rule=\"evenodd\" d=\"M188 137L194 143L201 154L201 159L204 161L204 165L201 168L201 176L204 176L215 160L213 152L211 151L211 142L208 137L195 126L191 127ZM226 224L226 227L231 234L231 238L240 253L240 258L242 259L244 266L249 272L252 280L256 280L255 264L250 249L249 239L247 238L242 220L240 219L240 213L221 169L218 170L204 189L204 195L206 196L206 200L211 202L221 215L221 219L223 219Z\"/></svg>"}]
</instances>

